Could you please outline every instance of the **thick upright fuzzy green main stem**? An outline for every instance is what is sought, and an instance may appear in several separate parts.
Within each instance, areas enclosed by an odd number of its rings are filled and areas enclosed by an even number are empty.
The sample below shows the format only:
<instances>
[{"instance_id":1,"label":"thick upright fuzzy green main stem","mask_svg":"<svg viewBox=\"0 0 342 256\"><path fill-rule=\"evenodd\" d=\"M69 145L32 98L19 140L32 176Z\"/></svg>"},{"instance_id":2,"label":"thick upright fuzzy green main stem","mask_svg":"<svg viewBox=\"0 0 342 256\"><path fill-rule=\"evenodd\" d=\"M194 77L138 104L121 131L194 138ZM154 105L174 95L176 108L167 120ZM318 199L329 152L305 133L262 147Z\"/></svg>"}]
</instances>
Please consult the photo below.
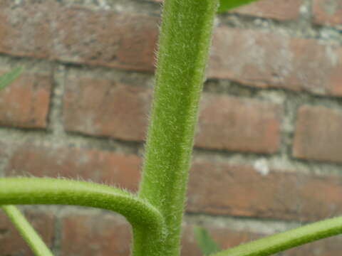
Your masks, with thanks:
<instances>
[{"instance_id":1,"label":"thick upright fuzzy green main stem","mask_svg":"<svg viewBox=\"0 0 342 256\"><path fill-rule=\"evenodd\" d=\"M163 256L179 255L197 110L217 6L218 0L164 1L139 190L140 198L152 203L165 218L167 237L159 246ZM133 247L141 247L140 237L135 233ZM140 255L143 252L134 254Z\"/></svg>"}]
</instances>

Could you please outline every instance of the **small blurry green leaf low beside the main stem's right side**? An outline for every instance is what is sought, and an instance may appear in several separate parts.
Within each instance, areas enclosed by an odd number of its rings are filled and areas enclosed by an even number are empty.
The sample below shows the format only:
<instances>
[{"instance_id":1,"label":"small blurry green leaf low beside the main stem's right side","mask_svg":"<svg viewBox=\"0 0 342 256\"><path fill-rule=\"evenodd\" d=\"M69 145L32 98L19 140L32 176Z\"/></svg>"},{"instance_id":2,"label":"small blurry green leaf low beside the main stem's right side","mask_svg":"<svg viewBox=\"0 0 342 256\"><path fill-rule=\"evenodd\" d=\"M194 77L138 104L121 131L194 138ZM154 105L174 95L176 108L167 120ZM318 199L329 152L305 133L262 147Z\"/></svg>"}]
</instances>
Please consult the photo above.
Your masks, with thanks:
<instances>
[{"instance_id":1,"label":"small blurry green leaf low beside the main stem's right side","mask_svg":"<svg viewBox=\"0 0 342 256\"><path fill-rule=\"evenodd\" d=\"M199 245L199 248L201 248L204 256L211 255L212 253L219 252L219 250L221 250L219 248L219 245L217 245L217 243L212 240L206 229L195 226L194 235L195 239L197 240L197 244Z\"/></svg>"}]
</instances>

